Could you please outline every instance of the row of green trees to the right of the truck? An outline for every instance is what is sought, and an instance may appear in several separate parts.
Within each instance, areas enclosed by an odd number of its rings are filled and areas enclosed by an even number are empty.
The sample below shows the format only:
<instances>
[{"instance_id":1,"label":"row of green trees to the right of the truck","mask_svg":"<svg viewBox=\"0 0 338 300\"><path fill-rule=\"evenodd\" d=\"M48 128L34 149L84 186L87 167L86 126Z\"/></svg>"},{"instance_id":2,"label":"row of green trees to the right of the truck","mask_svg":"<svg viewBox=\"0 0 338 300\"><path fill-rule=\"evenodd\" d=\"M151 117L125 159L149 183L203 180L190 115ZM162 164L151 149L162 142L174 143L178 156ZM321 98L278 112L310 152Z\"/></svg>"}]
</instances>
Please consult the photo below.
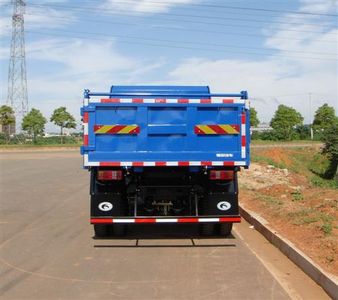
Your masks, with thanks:
<instances>
[{"instance_id":1,"label":"row of green trees to the right of the truck","mask_svg":"<svg viewBox=\"0 0 338 300\"><path fill-rule=\"evenodd\" d=\"M297 134L298 136L300 134L302 138L304 136L304 134L302 135L303 132L308 133L308 136L310 136L310 126L318 139L323 139L327 130L333 124L338 123L334 108L328 104L324 104L317 109L311 125L303 125L303 120L302 115L294 108L279 105L270 121L272 131L266 134L267 139L292 140L297 137ZM250 109L250 123L252 127L257 127L260 123L257 111L254 108Z\"/></svg>"}]
</instances>

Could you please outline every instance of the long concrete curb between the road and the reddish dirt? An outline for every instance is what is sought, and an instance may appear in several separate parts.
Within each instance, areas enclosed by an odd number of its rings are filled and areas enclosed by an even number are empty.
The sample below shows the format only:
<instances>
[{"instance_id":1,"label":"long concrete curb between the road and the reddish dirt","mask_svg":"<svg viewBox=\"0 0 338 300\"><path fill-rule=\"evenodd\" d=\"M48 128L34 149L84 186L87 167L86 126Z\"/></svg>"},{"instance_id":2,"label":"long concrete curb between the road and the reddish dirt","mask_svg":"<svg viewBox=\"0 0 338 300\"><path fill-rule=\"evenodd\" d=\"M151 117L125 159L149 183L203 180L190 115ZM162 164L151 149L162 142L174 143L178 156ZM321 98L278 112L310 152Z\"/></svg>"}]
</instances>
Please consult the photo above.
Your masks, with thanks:
<instances>
[{"instance_id":1,"label":"long concrete curb between the road and the reddish dirt","mask_svg":"<svg viewBox=\"0 0 338 300\"><path fill-rule=\"evenodd\" d=\"M268 222L256 213L240 207L242 217L252 224L271 244L276 246L293 263L320 285L332 299L338 299L338 278L325 272L311 258L299 250L292 242L274 231Z\"/></svg>"}]
</instances>

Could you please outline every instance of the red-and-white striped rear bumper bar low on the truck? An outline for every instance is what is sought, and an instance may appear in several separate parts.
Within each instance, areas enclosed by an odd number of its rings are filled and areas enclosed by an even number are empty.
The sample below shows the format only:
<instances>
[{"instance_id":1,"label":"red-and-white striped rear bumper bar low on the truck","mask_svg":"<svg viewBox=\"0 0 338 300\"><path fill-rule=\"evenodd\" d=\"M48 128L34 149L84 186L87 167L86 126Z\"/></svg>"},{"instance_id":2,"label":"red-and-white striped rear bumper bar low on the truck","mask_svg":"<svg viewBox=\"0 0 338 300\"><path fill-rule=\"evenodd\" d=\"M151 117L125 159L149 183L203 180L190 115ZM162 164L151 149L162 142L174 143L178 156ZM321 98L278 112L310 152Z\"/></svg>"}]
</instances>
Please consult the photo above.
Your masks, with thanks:
<instances>
[{"instance_id":1,"label":"red-and-white striped rear bumper bar low on the truck","mask_svg":"<svg viewBox=\"0 0 338 300\"><path fill-rule=\"evenodd\" d=\"M91 218L91 224L240 223L240 216L222 217L114 217Z\"/></svg>"}]
</instances>

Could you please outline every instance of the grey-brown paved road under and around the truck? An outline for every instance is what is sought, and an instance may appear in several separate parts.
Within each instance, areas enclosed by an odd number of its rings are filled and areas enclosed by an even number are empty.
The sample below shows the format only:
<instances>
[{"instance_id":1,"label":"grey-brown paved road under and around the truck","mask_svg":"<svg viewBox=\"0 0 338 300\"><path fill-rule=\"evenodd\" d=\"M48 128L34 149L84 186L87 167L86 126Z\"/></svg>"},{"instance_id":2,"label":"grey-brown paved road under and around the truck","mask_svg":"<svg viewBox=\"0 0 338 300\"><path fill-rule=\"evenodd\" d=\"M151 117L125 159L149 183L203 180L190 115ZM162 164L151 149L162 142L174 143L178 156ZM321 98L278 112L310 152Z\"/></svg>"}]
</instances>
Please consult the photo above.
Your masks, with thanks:
<instances>
[{"instance_id":1,"label":"grey-brown paved road under and around the truck","mask_svg":"<svg viewBox=\"0 0 338 300\"><path fill-rule=\"evenodd\" d=\"M243 222L232 238L142 226L94 239L75 152L0 155L1 299L326 299Z\"/></svg>"}]
</instances>

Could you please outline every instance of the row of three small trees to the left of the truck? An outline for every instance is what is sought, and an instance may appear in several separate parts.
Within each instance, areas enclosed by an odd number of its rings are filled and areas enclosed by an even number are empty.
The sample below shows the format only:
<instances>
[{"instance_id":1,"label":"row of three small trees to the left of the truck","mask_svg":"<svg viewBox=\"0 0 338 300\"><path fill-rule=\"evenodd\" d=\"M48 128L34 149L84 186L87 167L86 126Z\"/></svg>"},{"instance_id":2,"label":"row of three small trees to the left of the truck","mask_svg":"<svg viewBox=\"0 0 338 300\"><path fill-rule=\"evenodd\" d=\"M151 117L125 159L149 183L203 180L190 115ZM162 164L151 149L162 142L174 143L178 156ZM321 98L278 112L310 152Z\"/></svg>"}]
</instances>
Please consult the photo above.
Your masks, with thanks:
<instances>
[{"instance_id":1,"label":"row of three small trees to the left of the truck","mask_svg":"<svg viewBox=\"0 0 338 300\"><path fill-rule=\"evenodd\" d=\"M67 111L66 107L61 106L54 110L50 117L50 122L60 127L61 143L63 143L63 130L64 128L76 128L75 118ZM43 116L41 111L32 108L30 112L22 119L22 130L27 132L36 143L39 135L45 132L45 125L47 119ZM7 138L9 138L10 126L15 126L14 111L10 106L0 106L0 124L7 128L4 130Z\"/></svg>"}]
</instances>

